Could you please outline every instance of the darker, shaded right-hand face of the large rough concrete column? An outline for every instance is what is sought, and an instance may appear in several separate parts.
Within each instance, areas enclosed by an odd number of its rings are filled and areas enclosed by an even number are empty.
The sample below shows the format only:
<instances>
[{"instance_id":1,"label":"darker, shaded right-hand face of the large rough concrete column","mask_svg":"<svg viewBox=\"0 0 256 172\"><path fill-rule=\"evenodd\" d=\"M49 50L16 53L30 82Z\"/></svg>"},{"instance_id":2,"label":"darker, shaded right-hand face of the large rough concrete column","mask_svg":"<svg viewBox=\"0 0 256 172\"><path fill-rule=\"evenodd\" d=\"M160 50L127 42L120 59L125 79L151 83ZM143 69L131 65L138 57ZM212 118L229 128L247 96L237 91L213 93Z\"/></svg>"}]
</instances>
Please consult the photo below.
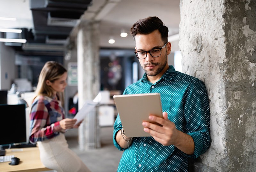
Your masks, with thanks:
<instances>
[{"instance_id":1,"label":"darker, shaded right-hand face of the large rough concrete column","mask_svg":"<svg viewBox=\"0 0 256 172\"><path fill-rule=\"evenodd\" d=\"M230 171L256 171L256 1L225 2L225 97ZM230 163L232 162L232 163Z\"/></svg>"}]
</instances>

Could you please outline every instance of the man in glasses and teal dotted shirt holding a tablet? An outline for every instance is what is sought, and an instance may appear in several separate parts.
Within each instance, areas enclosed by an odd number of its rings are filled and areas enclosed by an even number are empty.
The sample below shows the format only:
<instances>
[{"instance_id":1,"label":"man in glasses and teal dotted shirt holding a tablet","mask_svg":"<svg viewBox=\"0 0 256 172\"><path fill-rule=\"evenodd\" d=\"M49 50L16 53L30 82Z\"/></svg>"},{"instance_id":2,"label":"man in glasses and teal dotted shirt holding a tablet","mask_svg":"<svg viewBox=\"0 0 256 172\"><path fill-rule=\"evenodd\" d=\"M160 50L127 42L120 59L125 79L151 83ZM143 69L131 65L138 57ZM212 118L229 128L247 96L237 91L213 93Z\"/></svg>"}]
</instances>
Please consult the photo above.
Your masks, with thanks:
<instances>
[{"instance_id":1,"label":"man in glasses and teal dotted shirt holding a tablet","mask_svg":"<svg viewBox=\"0 0 256 172\"><path fill-rule=\"evenodd\" d=\"M137 21L130 30L135 54L144 76L123 94L161 95L163 118L151 114L160 125L142 122L152 137L126 137L119 115L114 123L114 145L123 156L117 171L188 171L188 158L196 158L210 146L210 111L205 85L195 77L168 66L171 52L168 28L158 17ZM132 124L131 124L132 125Z\"/></svg>"}]
</instances>

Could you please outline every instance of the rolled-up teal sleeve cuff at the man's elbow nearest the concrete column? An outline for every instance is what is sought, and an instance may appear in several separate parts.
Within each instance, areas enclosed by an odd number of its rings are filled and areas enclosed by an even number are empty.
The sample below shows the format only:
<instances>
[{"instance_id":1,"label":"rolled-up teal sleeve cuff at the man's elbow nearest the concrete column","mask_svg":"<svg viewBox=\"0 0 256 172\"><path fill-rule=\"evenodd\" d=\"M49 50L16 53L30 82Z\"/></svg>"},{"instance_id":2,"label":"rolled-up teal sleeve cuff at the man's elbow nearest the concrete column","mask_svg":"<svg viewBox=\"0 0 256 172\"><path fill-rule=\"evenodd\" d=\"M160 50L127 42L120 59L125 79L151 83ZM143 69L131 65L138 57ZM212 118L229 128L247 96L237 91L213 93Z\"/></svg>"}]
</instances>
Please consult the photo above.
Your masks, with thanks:
<instances>
[{"instance_id":1,"label":"rolled-up teal sleeve cuff at the man's elbow nearest the concrete column","mask_svg":"<svg viewBox=\"0 0 256 172\"><path fill-rule=\"evenodd\" d=\"M193 138L194 144L195 144L195 150L193 155L188 155L188 154L186 155L191 158L197 158L199 157L199 155L201 155L201 152L204 149L203 136L200 135L199 133L187 133L187 134Z\"/></svg>"}]
</instances>

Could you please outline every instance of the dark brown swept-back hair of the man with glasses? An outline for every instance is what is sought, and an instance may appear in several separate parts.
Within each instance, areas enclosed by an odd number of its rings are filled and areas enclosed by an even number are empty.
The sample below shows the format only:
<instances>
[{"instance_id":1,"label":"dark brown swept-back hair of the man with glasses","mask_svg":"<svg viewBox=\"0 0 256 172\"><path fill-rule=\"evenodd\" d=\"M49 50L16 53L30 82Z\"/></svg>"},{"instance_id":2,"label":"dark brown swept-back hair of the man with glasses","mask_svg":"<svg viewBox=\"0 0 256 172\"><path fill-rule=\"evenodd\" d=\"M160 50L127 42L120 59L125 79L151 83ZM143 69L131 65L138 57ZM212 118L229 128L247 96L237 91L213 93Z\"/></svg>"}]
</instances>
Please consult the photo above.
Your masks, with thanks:
<instances>
[{"instance_id":1,"label":"dark brown swept-back hair of the man with glasses","mask_svg":"<svg viewBox=\"0 0 256 172\"><path fill-rule=\"evenodd\" d=\"M164 42L168 41L169 29L168 27L164 26L163 21L156 16L138 20L130 29L130 34L135 41L135 36L137 34L147 35L154 32L155 30L160 32L161 38Z\"/></svg>"}]
</instances>

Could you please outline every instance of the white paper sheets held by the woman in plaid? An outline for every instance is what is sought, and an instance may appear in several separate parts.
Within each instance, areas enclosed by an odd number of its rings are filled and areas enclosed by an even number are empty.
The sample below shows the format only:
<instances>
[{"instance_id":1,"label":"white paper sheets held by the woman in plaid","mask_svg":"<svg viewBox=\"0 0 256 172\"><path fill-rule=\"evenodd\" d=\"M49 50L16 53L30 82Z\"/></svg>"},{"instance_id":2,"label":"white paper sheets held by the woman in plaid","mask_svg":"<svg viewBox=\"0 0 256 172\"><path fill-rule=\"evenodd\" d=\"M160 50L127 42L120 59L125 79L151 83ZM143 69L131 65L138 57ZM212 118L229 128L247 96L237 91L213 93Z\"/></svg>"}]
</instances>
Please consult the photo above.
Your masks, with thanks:
<instances>
[{"instance_id":1,"label":"white paper sheets held by the woman in plaid","mask_svg":"<svg viewBox=\"0 0 256 172\"><path fill-rule=\"evenodd\" d=\"M91 111L93 110L93 108L98 104L98 102L94 102L92 100L86 100L84 103L84 106L76 113L74 119L77 119L76 123L74 124L74 126L79 123L80 121L82 121L85 116Z\"/></svg>"}]
</instances>

